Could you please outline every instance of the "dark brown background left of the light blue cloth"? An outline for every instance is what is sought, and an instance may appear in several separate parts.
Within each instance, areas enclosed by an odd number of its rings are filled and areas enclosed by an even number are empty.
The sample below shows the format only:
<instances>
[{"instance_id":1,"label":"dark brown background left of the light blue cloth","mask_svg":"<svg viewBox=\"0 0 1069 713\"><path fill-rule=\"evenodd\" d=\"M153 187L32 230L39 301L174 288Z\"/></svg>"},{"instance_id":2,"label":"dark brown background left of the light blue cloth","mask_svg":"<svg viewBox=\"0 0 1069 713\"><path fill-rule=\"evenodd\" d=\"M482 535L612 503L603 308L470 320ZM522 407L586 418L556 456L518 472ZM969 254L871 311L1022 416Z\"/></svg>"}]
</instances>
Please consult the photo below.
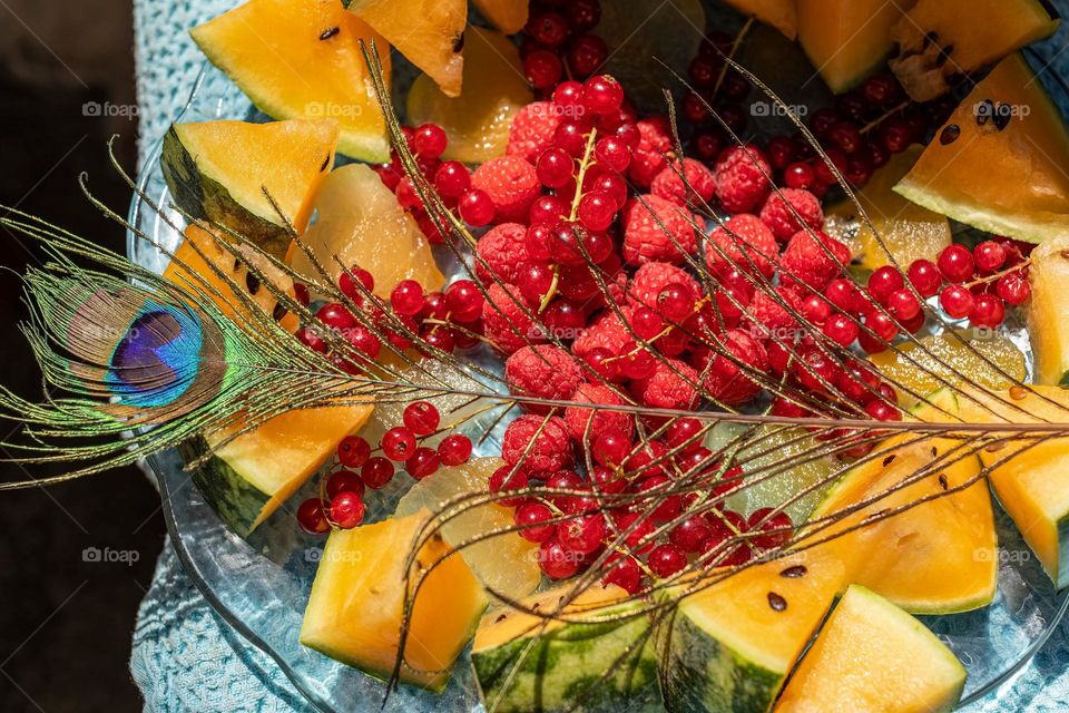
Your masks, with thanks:
<instances>
[{"instance_id":1,"label":"dark brown background left of the light blue cloth","mask_svg":"<svg viewBox=\"0 0 1069 713\"><path fill-rule=\"evenodd\" d=\"M89 205L77 177L87 172L97 197L126 213L129 192L108 165L106 141L120 134L133 172L136 118L86 116L84 106L134 101L131 26L129 4L117 0L0 2L0 205L116 251L121 227ZM0 229L0 265L22 272L39 260L27 238ZM40 372L16 331L26 316L20 292L18 279L0 271L0 383L39 398ZM0 442L14 428L0 421ZM0 463L0 471L7 482L61 469ZM158 506L134 468L0 492L0 711L141 710L128 662L164 539ZM90 547L136 561L87 561Z\"/></svg>"}]
</instances>

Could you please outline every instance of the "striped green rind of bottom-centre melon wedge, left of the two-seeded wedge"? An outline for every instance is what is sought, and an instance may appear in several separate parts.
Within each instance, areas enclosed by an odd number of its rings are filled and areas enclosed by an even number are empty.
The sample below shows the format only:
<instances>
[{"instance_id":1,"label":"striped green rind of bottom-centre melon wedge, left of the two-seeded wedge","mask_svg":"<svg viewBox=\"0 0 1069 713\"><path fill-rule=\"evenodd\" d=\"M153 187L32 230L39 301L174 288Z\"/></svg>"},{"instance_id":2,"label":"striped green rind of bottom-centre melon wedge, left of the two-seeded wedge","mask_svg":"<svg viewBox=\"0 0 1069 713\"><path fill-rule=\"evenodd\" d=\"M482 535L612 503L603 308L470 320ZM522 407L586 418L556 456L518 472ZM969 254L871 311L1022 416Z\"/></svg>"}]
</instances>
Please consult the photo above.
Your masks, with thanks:
<instances>
[{"instance_id":1,"label":"striped green rind of bottom-centre melon wedge, left of the two-seeded wedge","mask_svg":"<svg viewBox=\"0 0 1069 713\"><path fill-rule=\"evenodd\" d=\"M599 616L634 612L636 604L610 607ZM619 713L656 710L657 657L651 636L637 655L626 658L609 678L604 674L645 635L649 622L634 616L616 622L571 623L543 634L527 654L502 695L503 683L530 644L520 637L494 648L472 652L475 682L494 713ZM560 676L560 680L555 678Z\"/></svg>"}]
</instances>

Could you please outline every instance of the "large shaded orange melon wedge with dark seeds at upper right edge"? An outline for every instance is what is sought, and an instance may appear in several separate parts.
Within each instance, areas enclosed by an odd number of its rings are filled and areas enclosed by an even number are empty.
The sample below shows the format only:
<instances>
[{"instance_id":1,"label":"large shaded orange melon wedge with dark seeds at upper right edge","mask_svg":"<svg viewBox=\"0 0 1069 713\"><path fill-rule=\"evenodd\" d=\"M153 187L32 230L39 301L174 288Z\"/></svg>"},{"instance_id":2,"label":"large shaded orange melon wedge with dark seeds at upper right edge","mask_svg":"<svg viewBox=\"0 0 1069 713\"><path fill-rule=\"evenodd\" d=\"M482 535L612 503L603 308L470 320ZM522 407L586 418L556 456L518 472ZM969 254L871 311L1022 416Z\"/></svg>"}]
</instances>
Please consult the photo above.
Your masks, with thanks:
<instances>
[{"instance_id":1,"label":"large shaded orange melon wedge with dark seeds at upper right edge","mask_svg":"<svg viewBox=\"0 0 1069 713\"><path fill-rule=\"evenodd\" d=\"M1069 233L1069 134L1020 55L991 70L894 191L981 231Z\"/></svg>"}]
</instances>

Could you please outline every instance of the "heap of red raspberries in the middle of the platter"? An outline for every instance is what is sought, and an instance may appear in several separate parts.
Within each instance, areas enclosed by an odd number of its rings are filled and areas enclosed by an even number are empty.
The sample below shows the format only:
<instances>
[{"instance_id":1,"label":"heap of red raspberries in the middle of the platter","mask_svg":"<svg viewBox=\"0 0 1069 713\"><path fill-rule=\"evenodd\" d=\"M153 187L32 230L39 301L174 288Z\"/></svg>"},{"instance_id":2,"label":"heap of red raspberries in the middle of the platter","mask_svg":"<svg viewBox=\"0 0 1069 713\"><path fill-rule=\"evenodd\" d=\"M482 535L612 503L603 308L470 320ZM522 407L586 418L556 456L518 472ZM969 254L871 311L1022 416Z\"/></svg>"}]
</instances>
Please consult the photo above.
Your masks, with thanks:
<instances>
[{"instance_id":1,"label":"heap of red raspberries in the middle of the platter","mask_svg":"<svg viewBox=\"0 0 1069 713\"><path fill-rule=\"evenodd\" d=\"M612 254L599 274L558 265L549 305L528 299L520 285L534 262L547 260L528 240L527 214L545 192L534 164L553 145L559 123L550 102L527 106L512 123L507 155L472 175L496 215L475 251L488 297L483 335L507 355L511 393L540 400L524 402L527 413L508 427L502 453L543 478L570 467L576 446L600 433L635 438L636 417L612 407L686 410L706 400L752 400L764 374L778 378L787 368L772 358L775 335L796 328L792 312L801 313L805 297L822 292L851 260L844 244L822 232L815 195L773 188L761 148L732 147L710 165L680 158L667 119L653 117L637 123L627 169L632 194L608 231ZM699 209L725 217L707 225ZM666 290L693 304L689 316L668 310ZM551 320L573 329L549 339L539 325ZM639 336L657 320L661 332Z\"/></svg>"}]
</instances>

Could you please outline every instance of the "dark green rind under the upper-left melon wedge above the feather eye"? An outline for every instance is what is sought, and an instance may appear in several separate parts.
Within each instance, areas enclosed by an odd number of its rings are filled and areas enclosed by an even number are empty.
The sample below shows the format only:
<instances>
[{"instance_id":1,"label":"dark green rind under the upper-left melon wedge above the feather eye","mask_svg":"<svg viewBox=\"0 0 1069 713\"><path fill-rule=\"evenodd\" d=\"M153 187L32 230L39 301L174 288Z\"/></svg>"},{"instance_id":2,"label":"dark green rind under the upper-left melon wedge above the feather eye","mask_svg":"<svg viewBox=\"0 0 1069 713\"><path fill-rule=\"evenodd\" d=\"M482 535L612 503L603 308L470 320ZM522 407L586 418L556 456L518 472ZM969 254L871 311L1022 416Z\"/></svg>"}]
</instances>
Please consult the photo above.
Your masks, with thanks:
<instances>
[{"instance_id":1,"label":"dark green rind under the upper-left melon wedge above the feather eye","mask_svg":"<svg viewBox=\"0 0 1069 713\"><path fill-rule=\"evenodd\" d=\"M208 175L186 148L180 125L171 125L164 136L160 168L171 199L182 211L202 221L224 225L244 235L265 252L284 260L291 236L279 222L254 213L219 180Z\"/></svg>"}]
</instances>

